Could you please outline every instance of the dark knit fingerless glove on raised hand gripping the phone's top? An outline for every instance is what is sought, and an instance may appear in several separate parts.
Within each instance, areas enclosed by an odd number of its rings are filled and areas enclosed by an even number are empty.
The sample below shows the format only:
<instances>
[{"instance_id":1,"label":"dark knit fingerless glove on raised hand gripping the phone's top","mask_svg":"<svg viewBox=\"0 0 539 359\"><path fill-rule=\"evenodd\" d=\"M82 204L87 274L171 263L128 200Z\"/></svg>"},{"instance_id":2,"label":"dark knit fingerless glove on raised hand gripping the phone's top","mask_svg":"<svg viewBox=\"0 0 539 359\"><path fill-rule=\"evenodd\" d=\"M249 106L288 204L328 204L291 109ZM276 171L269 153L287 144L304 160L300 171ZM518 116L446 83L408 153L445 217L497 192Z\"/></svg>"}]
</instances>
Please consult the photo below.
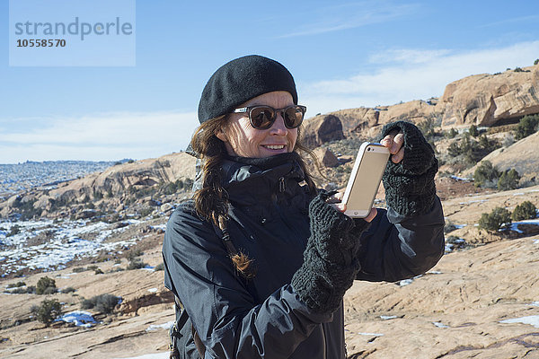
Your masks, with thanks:
<instances>
[{"instance_id":1,"label":"dark knit fingerless glove on raised hand gripping the phone's top","mask_svg":"<svg viewBox=\"0 0 539 359\"><path fill-rule=\"evenodd\" d=\"M385 201L400 215L422 215L434 205L434 176L438 162L420 129L410 122L398 121L385 125L382 138L395 128L404 134L404 158L399 163L391 160L387 163L382 178Z\"/></svg>"}]
</instances>

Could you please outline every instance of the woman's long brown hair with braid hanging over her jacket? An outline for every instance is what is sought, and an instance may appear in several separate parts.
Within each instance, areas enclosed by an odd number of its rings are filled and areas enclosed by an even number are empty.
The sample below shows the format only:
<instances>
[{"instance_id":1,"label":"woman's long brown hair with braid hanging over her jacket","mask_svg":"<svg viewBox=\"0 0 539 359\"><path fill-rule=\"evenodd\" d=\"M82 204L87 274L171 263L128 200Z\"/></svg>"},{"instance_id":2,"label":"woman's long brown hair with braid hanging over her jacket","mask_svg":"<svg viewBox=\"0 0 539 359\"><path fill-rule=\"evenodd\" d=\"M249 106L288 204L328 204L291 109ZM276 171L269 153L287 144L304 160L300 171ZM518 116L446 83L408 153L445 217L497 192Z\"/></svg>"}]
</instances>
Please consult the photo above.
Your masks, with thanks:
<instances>
[{"instance_id":1,"label":"woman's long brown hair with braid hanging over her jacket","mask_svg":"<svg viewBox=\"0 0 539 359\"><path fill-rule=\"evenodd\" d=\"M216 133L222 130L226 123L226 115L217 118L208 119L203 122L192 136L190 145L195 153L198 153L203 162L202 186L199 188L193 198L197 213L215 224L223 232L223 242L229 257L234 263L236 270L246 278L255 276L255 269L252 265L252 259L248 258L243 252L236 250L231 241L228 231L228 194L225 188L221 186L221 165L225 158L225 144L216 137ZM318 161L314 153L301 143L301 129L298 128L296 147L294 151L300 150L311 156L315 165L318 167ZM313 177L307 170L303 158L299 159L299 165L305 173L305 183L309 192L314 194L316 186Z\"/></svg>"}]
</instances>

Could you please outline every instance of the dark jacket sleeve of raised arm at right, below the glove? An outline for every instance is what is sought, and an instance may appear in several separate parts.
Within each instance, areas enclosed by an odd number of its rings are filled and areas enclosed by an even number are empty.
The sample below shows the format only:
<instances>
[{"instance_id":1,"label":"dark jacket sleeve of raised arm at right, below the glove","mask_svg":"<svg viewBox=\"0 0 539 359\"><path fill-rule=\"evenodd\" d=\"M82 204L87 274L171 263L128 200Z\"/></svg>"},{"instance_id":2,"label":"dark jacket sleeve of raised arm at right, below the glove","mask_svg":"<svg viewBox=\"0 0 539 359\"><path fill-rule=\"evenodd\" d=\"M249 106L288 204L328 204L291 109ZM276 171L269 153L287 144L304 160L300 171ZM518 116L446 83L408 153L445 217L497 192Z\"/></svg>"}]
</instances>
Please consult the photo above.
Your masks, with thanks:
<instances>
[{"instance_id":1,"label":"dark jacket sleeve of raised arm at right, below the glove","mask_svg":"<svg viewBox=\"0 0 539 359\"><path fill-rule=\"evenodd\" d=\"M427 272L444 254L444 224L438 197L423 215L378 209L370 228L361 236L361 270L356 278L395 282Z\"/></svg>"}]
</instances>

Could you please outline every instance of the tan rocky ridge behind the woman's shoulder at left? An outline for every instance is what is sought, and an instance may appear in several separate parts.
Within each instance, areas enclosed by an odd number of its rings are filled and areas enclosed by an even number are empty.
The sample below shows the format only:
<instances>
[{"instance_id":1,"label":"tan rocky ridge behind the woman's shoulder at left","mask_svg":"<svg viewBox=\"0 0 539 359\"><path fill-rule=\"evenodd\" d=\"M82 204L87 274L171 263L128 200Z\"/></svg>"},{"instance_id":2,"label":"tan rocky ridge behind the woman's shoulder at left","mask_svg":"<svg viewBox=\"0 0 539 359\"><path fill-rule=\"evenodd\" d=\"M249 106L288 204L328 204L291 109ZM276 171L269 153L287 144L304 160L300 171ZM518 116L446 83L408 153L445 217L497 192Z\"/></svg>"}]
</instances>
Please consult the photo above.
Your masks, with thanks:
<instances>
[{"instance_id":1,"label":"tan rocky ridge behind the woman's shoulder at left","mask_svg":"<svg viewBox=\"0 0 539 359\"><path fill-rule=\"evenodd\" d=\"M82 179L60 183L57 188L33 189L14 195L0 203L0 216L22 213L29 218L69 217L76 211L95 208L103 213L121 212L137 201L138 205L146 202L157 206L166 195L176 192L171 184L189 190L194 176L195 159L187 153L117 164ZM160 189L159 196L154 197Z\"/></svg>"}]
</instances>

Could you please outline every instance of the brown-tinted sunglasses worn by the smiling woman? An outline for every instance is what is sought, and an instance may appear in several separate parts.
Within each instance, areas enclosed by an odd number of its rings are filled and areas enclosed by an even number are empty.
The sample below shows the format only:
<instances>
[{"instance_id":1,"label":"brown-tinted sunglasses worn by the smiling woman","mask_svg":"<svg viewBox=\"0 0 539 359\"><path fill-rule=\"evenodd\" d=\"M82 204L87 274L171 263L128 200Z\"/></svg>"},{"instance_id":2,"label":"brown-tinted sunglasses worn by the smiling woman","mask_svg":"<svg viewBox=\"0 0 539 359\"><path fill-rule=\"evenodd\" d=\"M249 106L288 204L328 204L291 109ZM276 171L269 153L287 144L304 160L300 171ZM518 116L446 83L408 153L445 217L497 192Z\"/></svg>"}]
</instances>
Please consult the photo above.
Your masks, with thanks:
<instances>
[{"instance_id":1,"label":"brown-tinted sunglasses worn by the smiling woman","mask_svg":"<svg viewBox=\"0 0 539 359\"><path fill-rule=\"evenodd\" d=\"M296 128L301 125L307 108L301 105L292 105L284 109L274 109L271 106L258 105L234 109L234 113L247 112L251 126L258 129L268 129L273 126L277 113L280 112L287 128Z\"/></svg>"}]
</instances>

